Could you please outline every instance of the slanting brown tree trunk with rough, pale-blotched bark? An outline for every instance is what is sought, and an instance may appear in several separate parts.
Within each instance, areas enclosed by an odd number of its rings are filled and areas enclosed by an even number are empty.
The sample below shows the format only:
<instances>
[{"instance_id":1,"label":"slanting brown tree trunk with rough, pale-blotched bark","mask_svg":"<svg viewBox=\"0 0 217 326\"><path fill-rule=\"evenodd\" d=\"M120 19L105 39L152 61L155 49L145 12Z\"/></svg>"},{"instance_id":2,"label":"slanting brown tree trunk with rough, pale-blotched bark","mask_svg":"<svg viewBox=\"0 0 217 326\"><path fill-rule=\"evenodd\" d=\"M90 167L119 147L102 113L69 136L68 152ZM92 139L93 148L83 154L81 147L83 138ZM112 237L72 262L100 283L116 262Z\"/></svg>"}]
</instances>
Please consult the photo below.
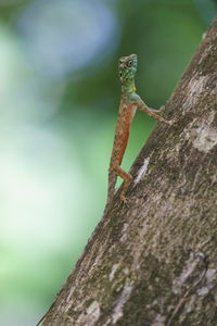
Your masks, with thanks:
<instances>
[{"instance_id":1,"label":"slanting brown tree trunk with rough, pale-blotched bark","mask_svg":"<svg viewBox=\"0 0 217 326\"><path fill-rule=\"evenodd\" d=\"M43 326L217 325L217 20Z\"/></svg>"}]
</instances>

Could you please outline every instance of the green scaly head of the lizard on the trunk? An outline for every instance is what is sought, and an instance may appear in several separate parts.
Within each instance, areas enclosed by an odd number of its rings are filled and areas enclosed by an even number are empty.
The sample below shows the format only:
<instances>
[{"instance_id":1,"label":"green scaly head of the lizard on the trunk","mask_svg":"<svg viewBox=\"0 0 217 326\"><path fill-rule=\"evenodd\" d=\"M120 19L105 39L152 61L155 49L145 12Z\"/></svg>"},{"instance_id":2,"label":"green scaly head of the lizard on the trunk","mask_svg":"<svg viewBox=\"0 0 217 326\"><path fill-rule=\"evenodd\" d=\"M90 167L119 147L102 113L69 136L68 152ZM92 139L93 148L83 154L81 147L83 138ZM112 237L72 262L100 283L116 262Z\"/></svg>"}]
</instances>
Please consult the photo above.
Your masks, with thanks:
<instances>
[{"instance_id":1,"label":"green scaly head of the lizard on the trunk","mask_svg":"<svg viewBox=\"0 0 217 326\"><path fill-rule=\"evenodd\" d=\"M136 91L135 75L137 72L137 54L122 57L118 63L122 88L128 92Z\"/></svg>"}]
</instances>

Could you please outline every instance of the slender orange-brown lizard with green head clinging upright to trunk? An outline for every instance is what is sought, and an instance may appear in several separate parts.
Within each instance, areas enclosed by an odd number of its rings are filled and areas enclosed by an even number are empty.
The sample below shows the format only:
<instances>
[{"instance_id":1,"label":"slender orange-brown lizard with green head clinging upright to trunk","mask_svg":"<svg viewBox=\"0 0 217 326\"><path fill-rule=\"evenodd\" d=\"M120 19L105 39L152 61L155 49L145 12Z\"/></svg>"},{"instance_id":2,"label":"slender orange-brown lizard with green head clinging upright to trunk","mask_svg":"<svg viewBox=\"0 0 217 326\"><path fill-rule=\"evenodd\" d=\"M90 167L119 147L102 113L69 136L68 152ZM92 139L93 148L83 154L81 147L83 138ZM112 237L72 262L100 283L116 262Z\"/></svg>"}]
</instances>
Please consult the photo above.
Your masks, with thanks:
<instances>
[{"instance_id":1,"label":"slender orange-brown lizard with green head clinging upright to trunk","mask_svg":"<svg viewBox=\"0 0 217 326\"><path fill-rule=\"evenodd\" d=\"M175 121L167 121L163 118L159 113L164 110L162 106L159 110L149 108L136 93L135 75L137 72L137 54L130 54L128 57L122 57L118 62L118 73L122 84L122 98L117 115L117 123L115 129L114 143L112 149L112 155L108 167L108 186L107 186L107 200L104 212L107 211L110 203L115 193L115 185L117 177L124 179L124 187L120 192L120 200L128 204L126 198L126 191L131 183L132 176L120 167L122 160L127 147L130 125L133 120L137 109L145 112L155 120L173 126Z\"/></svg>"}]
</instances>

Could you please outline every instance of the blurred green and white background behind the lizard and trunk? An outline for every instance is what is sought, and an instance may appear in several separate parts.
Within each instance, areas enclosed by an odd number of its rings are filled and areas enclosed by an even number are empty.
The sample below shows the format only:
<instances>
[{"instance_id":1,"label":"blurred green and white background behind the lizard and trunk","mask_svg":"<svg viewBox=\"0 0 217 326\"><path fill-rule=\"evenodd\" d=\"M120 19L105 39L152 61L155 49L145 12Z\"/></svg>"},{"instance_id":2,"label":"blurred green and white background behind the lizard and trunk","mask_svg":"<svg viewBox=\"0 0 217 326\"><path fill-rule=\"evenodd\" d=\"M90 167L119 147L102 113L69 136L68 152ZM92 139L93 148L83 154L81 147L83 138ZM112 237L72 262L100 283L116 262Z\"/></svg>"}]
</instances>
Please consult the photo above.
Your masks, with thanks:
<instances>
[{"instance_id":1,"label":"blurred green and white background behind the lizard and trunk","mask_svg":"<svg viewBox=\"0 0 217 326\"><path fill-rule=\"evenodd\" d=\"M212 0L0 0L0 325L31 326L103 212L120 98L166 102L217 12ZM123 166L155 122L138 112Z\"/></svg>"}]
</instances>

